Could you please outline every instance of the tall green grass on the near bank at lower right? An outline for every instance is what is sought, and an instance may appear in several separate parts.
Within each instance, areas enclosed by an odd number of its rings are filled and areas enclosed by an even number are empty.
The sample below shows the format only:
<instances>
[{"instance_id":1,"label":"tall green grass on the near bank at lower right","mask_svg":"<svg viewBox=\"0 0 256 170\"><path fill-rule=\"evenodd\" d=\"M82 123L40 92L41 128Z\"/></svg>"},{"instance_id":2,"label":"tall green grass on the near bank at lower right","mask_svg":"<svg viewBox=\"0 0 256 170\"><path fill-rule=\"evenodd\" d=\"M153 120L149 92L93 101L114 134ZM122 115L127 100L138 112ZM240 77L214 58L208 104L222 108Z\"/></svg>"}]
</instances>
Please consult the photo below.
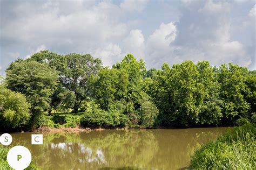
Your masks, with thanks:
<instances>
[{"instance_id":1,"label":"tall green grass on the near bank at lower right","mask_svg":"<svg viewBox=\"0 0 256 170\"><path fill-rule=\"evenodd\" d=\"M248 124L227 132L199 148L191 157L190 169L254 169L256 125Z\"/></svg>"}]
</instances>

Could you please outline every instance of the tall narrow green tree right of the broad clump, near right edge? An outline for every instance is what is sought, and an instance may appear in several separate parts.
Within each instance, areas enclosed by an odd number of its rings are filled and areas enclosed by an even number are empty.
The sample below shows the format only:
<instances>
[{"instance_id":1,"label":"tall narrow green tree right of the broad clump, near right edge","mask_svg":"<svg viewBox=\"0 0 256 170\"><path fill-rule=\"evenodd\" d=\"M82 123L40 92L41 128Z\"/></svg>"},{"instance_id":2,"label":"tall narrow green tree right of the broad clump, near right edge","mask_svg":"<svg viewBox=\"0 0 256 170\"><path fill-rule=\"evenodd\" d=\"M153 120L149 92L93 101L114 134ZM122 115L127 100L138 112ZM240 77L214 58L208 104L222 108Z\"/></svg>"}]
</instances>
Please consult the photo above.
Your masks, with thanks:
<instances>
[{"instance_id":1,"label":"tall narrow green tree right of the broad clump, near right edge","mask_svg":"<svg viewBox=\"0 0 256 170\"><path fill-rule=\"evenodd\" d=\"M223 123L234 125L237 119L248 117L250 108L243 95L247 90L245 69L232 63L229 66L221 65L218 79L220 97L224 101Z\"/></svg>"}]
</instances>

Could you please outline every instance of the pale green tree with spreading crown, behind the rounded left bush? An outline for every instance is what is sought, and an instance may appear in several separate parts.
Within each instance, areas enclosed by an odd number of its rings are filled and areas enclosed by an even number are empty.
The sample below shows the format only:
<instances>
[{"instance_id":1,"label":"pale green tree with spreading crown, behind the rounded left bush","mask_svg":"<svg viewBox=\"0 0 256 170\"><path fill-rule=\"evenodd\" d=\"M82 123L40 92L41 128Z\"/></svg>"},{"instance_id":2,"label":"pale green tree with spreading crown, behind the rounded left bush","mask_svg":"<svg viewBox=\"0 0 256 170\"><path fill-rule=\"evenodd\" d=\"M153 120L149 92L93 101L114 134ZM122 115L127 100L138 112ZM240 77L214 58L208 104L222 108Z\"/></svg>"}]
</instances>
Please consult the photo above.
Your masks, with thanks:
<instances>
[{"instance_id":1,"label":"pale green tree with spreading crown, behind the rounded left bush","mask_svg":"<svg viewBox=\"0 0 256 170\"><path fill-rule=\"evenodd\" d=\"M17 60L6 70L7 88L24 94L31 104L32 125L50 108L57 84L58 73L45 63Z\"/></svg>"}]
</instances>

